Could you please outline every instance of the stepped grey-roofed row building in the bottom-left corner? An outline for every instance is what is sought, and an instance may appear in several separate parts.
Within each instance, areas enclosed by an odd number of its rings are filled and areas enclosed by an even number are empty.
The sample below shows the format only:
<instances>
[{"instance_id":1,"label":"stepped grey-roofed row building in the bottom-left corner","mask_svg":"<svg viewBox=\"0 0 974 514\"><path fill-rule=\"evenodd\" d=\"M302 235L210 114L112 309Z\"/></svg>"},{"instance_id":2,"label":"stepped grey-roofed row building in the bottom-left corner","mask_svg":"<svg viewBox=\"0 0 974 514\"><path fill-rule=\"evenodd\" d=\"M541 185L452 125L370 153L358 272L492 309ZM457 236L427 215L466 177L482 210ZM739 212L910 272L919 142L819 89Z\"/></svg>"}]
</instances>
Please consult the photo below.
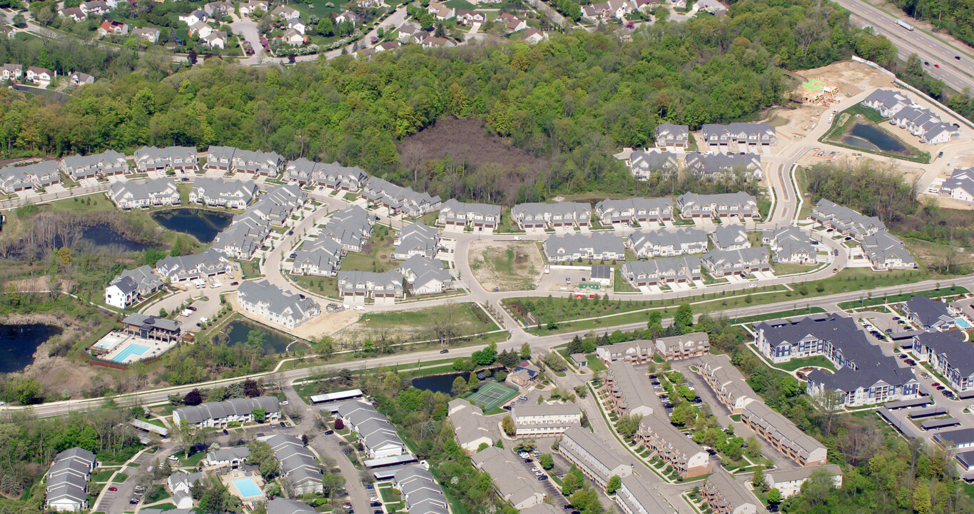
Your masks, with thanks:
<instances>
[{"instance_id":1,"label":"stepped grey-roofed row building in the bottom-left corner","mask_svg":"<svg viewBox=\"0 0 974 514\"><path fill-rule=\"evenodd\" d=\"M75 447L57 454L45 475L44 506L58 512L88 510L88 481L97 467L88 450Z\"/></svg>"}]
</instances>

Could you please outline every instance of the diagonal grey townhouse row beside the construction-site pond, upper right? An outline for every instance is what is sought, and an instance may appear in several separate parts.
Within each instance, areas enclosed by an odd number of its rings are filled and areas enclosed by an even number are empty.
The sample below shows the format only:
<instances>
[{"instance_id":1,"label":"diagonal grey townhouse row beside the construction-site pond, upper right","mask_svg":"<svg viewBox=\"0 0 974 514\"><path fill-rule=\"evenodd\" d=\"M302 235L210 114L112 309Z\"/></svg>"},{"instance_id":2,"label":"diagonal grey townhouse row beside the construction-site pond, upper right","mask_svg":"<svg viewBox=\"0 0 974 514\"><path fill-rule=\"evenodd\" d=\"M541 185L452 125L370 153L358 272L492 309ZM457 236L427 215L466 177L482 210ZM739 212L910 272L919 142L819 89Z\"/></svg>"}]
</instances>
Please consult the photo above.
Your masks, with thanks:
<instances>
[{"instance_id":1,"label":"diagonal grey townhouse row beside the construction-site pond, upper right","mask_svg":"<svg viewBox=\"0 0 974 514\"><path fill-rule=\"evenodd\" d=\"M941 144L960 138L959 127L919 106L903 92L876 90L862 100L862 104L879 112L880 116L889 120L890 125L917 136L919 142Z\"/></svg>"}]
</instances>

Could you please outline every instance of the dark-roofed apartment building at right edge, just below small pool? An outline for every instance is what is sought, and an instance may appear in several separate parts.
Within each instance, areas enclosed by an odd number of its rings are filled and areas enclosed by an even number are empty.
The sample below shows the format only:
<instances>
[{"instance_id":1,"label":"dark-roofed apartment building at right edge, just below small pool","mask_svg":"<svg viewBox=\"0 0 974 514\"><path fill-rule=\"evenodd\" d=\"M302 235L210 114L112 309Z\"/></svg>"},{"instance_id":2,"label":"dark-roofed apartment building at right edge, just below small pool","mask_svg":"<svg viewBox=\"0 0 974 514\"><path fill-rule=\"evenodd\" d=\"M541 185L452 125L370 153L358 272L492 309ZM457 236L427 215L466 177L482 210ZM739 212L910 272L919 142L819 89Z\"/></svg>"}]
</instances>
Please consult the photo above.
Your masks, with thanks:
<instances>
[{"instance_id":1,"label":"dark-roofed apartment building at right edge, just below small pool","mask_svg":"<svg viewBox=\"0 0 974 514\"><path fill-rule=\"evenodd\" d=\"M962 332L921 333L915 337L913 352L947 378L955 391L974 389L974 347Z\"/></svg>"}]
</instances>

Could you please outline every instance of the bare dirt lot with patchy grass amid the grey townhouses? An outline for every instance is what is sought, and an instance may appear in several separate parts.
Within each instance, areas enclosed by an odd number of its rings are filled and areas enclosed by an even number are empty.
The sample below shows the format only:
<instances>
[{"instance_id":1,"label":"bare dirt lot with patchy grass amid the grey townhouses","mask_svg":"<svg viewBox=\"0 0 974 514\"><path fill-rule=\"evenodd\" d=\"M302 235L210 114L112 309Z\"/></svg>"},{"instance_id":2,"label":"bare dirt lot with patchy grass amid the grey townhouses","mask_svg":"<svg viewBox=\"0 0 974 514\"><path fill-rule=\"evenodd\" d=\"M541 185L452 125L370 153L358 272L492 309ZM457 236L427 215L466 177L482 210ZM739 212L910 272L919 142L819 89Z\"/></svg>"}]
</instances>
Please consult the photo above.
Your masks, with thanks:
<instances>
[{"instance_id":1,"label":"bare dirt lot with patchy grass amid the grey townhouses","mask_svg":"<svg viewBox=\"0 0 974 514\"><path fill-rule=\"evenodd\" d=\"M527 291L541 283L544 260L533 241L473 241L473 278L487 291Z\"/></svg>"}]
</instances>

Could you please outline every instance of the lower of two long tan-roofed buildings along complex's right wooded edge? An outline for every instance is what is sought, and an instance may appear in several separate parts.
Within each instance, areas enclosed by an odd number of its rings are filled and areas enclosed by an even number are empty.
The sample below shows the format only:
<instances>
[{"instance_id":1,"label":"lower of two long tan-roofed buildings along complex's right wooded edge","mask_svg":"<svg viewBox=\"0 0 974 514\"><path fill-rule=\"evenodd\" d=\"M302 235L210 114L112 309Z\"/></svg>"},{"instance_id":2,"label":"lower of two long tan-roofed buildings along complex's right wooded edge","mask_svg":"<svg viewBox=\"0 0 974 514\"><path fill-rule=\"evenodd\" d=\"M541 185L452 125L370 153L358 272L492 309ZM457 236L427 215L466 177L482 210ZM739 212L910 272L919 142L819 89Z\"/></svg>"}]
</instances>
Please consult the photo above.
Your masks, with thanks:
<instances>
[{"instance_id":1,"label":"lower of two long tan-roofed buildings along complex's right wooded edge","mask_svg":"<svg viewBox=\"0 0 974 514\"><path fill-rule=\"evenodd\" d=\"M775 450L799 464L812 466L825 463L825 447L764 402L751 402L744 406L740 420Z\"/></svg>"}]
</instances>

